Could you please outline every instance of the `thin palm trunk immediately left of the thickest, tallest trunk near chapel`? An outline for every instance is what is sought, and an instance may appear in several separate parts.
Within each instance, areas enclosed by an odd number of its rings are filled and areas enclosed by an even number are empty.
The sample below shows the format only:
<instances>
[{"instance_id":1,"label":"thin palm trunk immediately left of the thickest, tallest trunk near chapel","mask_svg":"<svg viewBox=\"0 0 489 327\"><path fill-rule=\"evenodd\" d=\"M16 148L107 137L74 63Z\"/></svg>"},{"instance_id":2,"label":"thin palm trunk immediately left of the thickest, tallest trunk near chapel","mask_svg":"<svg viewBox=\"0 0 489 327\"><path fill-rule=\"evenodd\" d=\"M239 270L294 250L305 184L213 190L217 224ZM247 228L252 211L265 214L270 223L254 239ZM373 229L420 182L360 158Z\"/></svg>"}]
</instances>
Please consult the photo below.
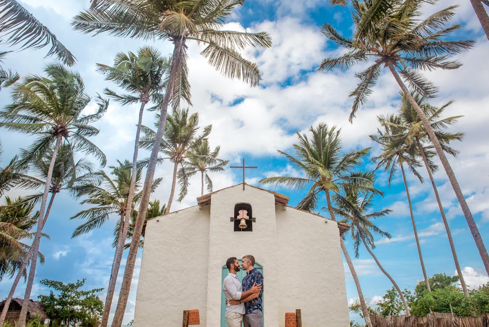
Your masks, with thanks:
<instances>
[{"instance_id":1,"label":"thin palm trunk immediately left of the thickest, tallest trunk near chapel","mask_svg":"<svg viewBox=\"0 0 489 327\"><path fill-rule=\"evenodd\" d=\"M142 115L144 112L144 106L147 101L141 101L141 108L139 111L138 127L136 129L136 140L134 144L133 154L133 167L131 175L131 183L129 185L129 194L127 195L127 205L125 209L125 215L120 217L119 224L119 238L117 239L116 253L114 254L114 261L112 262L112 270L109 279L109 287L107 288L107 297L105 298L104 311L102 313L102 321L100 327L107 327L109 322L110 308L112 306L112 300L114 298L114 291L116 289L117 274L119 273L120 261L122 260L122 254L124 253L124 244L127 237L127 229L131 222L131 212L133 206L134 190L136 188L136 177L138 175L138 151L139 151L139 137L142 125Z\"/></svg>"}]
</instances>

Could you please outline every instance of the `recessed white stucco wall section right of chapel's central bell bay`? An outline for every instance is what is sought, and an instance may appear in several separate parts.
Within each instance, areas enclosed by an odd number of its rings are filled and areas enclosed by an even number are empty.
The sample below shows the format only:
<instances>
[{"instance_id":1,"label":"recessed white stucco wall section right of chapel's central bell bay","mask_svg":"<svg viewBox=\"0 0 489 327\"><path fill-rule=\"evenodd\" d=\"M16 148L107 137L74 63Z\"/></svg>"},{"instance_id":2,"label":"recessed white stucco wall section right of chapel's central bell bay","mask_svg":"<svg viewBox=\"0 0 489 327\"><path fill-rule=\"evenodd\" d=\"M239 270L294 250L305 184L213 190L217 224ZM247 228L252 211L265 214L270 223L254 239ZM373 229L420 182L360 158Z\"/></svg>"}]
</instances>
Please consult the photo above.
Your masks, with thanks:
<instances>
[{"instance_id":1,"label":"recessed white stucco wall section right of chapel's central bell bay","mask_svg":"<svg viewBox=\"0 0 489 327\"><path fill-rule=\"evenodd\" d=\"M277 205L279 327L301 309L303 326L349 326L345 272L335 222ZM325 223L327 221L327 223Z\"/></svg>"}]
</instances>

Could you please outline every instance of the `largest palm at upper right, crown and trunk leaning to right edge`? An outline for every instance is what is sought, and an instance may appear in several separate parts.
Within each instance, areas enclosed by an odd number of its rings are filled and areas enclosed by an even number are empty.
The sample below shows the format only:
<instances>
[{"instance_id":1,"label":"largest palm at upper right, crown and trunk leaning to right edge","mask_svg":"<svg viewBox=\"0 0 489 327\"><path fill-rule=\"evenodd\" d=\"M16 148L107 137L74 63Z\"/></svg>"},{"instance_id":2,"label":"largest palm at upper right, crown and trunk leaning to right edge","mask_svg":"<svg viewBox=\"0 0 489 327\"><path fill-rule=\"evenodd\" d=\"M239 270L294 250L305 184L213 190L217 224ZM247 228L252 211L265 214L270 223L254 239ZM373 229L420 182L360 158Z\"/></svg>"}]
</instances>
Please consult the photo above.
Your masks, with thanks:
<instances>
[{"instance_id":1,"label":"largest palm at upper right, crown and trunk leaning to right edge","mask_svg":"<svg viewBox=\"0 0 489 327\"><path fill-rule=\"evenodd\" d=\"M459 68L461 64L458 61L448 61L448 56L472 48L474 41L444 39L446 35L460 28L460 25L445 26L455 15L453 11L455 6L440 10L419 21L420 7L423 2L426 2L423 0L366 0L364 2L352 0L351 2L355 24L354 40L342 37L329 24L322 27L322 32L327 38L349 51L338 58L326 58L319 70L348 69L359 61L375 59L372 66L357 74L360 82L350 94L350 97L354 98L349 117L351 121L359 106L364 104L372 93L372 87L378 80L381 68L389 68L409 103L419 115L433 143L489 275L489 254L457 178L436 137L435 130L402 81L404 78L411 88L422 96L433 97L437 88L427 81L419 70Z\"/></svg>"}]
</instances>

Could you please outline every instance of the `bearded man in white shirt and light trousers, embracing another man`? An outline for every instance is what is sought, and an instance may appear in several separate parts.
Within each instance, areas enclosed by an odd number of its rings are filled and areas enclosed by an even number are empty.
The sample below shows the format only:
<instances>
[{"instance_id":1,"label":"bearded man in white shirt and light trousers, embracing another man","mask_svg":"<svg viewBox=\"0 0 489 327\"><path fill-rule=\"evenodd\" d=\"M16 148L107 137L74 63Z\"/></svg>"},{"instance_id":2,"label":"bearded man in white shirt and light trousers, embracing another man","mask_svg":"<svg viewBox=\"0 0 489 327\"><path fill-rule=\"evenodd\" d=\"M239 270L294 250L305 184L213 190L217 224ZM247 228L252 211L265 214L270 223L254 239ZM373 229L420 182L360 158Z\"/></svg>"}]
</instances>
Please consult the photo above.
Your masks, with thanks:
<instances>
[{"instance_id":1,"label":"bearded man in white shirt and light trousers, embracing another man","mask_svg":"<svg viewBox=\"0 0 489 327\"><path fill-rule=\"evenodd\" d=\"M226 300L236 300L239 303L237 305L231 305L226 301L226 322L229 327L241 327L243 323L243 315L245 313L244 303L241 303L241 299L245 299L249 295L259 293L261 291L261 285L253 287L246 292L243 292L243 286L239 282L236 273L239 271L239 263L236 257L231 257L226 260L226 267L229 269L229 274L224 278L222 283L222 290Z\"/></svg>"}]
</instances>

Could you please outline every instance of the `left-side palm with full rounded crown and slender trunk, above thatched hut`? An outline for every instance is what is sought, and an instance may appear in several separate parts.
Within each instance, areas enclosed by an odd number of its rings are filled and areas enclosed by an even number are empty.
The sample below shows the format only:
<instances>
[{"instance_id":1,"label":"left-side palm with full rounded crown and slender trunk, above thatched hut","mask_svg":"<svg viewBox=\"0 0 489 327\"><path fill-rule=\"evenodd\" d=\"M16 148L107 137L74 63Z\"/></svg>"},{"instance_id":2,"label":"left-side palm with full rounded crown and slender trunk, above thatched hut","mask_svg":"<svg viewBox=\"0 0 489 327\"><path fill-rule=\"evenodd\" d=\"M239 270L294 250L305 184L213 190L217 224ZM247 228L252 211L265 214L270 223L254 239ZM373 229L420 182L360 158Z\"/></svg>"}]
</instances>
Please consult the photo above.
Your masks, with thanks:
<instances>
[{"instance_id":1,"label":"left-side palm with full rounded crown and slender trunk, above thatched hut","mask_svg":"<svg viewBox=\"0 0 489 327\"><path fill-rule=\"evenodd\" d=\"M47 77L29 75L19 84L13 86L12 96L14 102L0 111L0 126L9 130L18 131L37 136L34 143L24 152L20 164L25 164L43 157L52 150L44 193L39 210L39 223L36 236L32 243L33 252L39 251L42 230L46 224L46 204L51 186L52 173L58 151L62 145L67 145L72 151L91 153L105 165L105 155L87 137L98 134L98 129L90 126L99 120L107 110L108 101L98 98L98 110L88 116L81 112L91 101L84 92L84 84L80 75L67 70L60 64L47 65ZM20 274L30 258L26 256L22 263ZM29 279L33 280L35 270L30 269ZM0 325L5 319L8 303L15 291L16 283L10 290L5 308L0 315ZM27 283L24 301L29 301L32 283ZM20 327L25 326L25 310L21 311Z\"/></svg>"}]
</instances>

